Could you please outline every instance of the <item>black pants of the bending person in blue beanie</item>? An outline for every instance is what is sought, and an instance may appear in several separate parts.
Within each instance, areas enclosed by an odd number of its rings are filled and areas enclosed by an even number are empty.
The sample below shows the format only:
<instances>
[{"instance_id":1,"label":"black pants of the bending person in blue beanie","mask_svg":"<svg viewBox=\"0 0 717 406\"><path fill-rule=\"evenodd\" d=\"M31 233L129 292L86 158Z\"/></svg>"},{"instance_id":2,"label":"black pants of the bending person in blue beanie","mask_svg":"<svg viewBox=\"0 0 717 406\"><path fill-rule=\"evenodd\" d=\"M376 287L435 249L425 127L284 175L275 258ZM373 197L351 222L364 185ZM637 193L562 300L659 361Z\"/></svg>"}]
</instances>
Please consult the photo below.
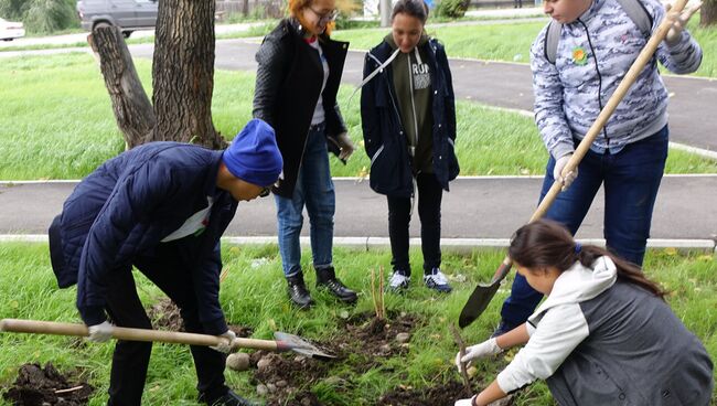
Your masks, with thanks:
<instances>
[{"instance_id":1,"label":"black pants of the bending person in blue beanie","mask_svg":"<svg viewBox=\"0 0 717 406\"><path fill-rule=\"evenodd\" d=\"M135 266L154 282L180 308L188 332L204 333L200 322L194 284L179 250L181 244L161 244L152 253L136 258ZM130 268L113 274L107 293L107 313L116 325L151 329L147 313L137 296ZM197 376L197 391L206 399L223 396L226 355L207 346L190 346ZM111 406L140 405L152 344L138 341L118 341L115 345L109 381Z\"/></svg>"}]
</instances>

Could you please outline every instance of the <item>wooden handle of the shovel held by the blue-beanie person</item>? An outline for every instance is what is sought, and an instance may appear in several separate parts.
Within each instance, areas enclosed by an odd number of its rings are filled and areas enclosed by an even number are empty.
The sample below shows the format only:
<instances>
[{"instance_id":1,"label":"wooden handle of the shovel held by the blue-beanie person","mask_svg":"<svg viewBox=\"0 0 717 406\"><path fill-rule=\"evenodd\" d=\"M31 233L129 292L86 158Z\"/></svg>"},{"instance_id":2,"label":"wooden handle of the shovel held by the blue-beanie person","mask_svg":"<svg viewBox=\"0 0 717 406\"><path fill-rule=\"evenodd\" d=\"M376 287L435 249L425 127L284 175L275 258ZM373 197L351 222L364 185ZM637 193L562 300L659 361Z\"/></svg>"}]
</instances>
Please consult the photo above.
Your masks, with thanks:
<instances>
[{"instance_id":1,"label":"wooden handle of the shovel held by the blue-beanie person","mask_svg":"<svg viewBox=\"0 0 717 406\"><path fill-rule=\"evenodd\" d=\"M32 334L55 334L55 335L74 335L74 336L88 336L89 332L85 324L76 323L61 323L55 321L36 321L36 320L18 320L18 319L2 319L0 320L0 331L9 331L15 333L32 333ZM113 329L113 338L126 341L151 341L164 342L175 344L190 344L190 345L218 345L223 342L222 338L208 334L183 333L175 331L159 331L146 329L130 329L124 327L115 327ZM244 348L267 351L286 351L290 350L285 343L279 343L272 340L256 340L256 339L235 339L232 348Z\"/></svg>"}]
</instances>

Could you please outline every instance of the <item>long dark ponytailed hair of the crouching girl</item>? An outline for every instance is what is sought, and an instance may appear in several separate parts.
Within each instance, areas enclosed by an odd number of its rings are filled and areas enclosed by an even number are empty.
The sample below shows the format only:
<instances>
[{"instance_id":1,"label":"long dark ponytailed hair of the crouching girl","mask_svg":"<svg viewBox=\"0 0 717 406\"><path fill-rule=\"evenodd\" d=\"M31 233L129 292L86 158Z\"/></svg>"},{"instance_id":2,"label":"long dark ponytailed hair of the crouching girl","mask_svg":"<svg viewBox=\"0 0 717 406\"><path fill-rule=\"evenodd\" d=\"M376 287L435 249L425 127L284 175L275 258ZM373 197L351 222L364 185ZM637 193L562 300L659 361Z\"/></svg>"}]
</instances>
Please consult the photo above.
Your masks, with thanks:
<instances>
[{"instance_id":1,"label":"long dark ponytailed hair of the crouching girl","mask_svg":"<svg viewBox=\"0 0 717 406\"><path fill-rule=\"evenodd\" d=\"M607 256L618 268L618 279L638 285L663 299L666 293L660 285L648 279L639 266L604 248L581 246L563 225L549 220L538 220L518 228L511 238L509 256L526 268L555 267L560 271L567 270L578 260L582 266L590 267L596 259Z\"/></svg>"}]
</instances>

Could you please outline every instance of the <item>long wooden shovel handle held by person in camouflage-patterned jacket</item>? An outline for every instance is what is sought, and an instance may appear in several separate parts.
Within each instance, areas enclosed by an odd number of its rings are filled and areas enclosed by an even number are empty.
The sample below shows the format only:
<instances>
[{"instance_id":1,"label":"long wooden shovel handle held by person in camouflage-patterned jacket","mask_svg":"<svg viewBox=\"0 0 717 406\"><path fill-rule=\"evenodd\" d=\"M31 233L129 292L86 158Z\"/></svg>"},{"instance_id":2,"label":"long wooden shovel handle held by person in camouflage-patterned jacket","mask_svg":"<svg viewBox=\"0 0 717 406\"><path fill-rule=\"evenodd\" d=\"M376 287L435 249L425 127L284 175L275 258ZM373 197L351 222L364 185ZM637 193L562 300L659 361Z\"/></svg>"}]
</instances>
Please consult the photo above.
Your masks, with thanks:
<instances>
[{"instance_id":1,"label":"long wooden shovel handle held by person in camouflage-patterned jacket","mask_svg":"<svg viewBox=\"0 0 717 406\"><path fill-rule=\"evenodd\" d=\"M688 0L677 0L675 4L672 7L670 12L676 12L679 13L682 10L687 6ZM578 164L585 158L585 154L588 153L588 150L590 150L590 146L592 145L592 141L598 137L600 131L602 131L602 127L608 122L612 114L614 113L614 109L618 108L618 105L620 105L620 101L624 98L624 95L628 93L630 87L635 83L638 79L638 76L642 72L642 70L645 67L645 65L650 62L652 58L652 55L655 53L657 50L657 46L660 46L660 43L664 41L665 36L667 35L667 32L672 28L672 21L665 15L665 18L662 20L660 23L660 26L657 26L657 30L652 34L645 46L642 49L640 54L638 55L638 58L632 63L632 66L630 66L630 71L624 75L622 81L620 82L620 85L618 85L618 88L614 90L612 96L608 99L608 103L602 107L602 110L598 115L598 118L592 122L592 126L590 126L590 129L588 132L585 135L585 138L580 141L578 147L575 149L575 152L572 153L572 157L568 160L568 163L565 164L565 168L563 168L563 173L561 175L565 177L567 173L572 172L576 168L578 168ZM545 213L547 213L548 209L550 205L553 205L553 202L555 202L555 199L557 195L560 193L560 189L563 189L563 183L558 182L557 180L553 182L553 186L550 186L550 190L548 193L543 197L541 201L541 204L538 204L537 209L531 216L531 220L528 223L533 223L536 220L542 218ZM495 274L493 275L493 280L496 280L501 276L501 271L504 269L504 266L507 266L509 268L513 265L513 261L511 260L510 257L505 257L503 259L503 265L499 267L495 270ZM502 278L501 278L502 279Z\"/></svg>"}]
</instances>

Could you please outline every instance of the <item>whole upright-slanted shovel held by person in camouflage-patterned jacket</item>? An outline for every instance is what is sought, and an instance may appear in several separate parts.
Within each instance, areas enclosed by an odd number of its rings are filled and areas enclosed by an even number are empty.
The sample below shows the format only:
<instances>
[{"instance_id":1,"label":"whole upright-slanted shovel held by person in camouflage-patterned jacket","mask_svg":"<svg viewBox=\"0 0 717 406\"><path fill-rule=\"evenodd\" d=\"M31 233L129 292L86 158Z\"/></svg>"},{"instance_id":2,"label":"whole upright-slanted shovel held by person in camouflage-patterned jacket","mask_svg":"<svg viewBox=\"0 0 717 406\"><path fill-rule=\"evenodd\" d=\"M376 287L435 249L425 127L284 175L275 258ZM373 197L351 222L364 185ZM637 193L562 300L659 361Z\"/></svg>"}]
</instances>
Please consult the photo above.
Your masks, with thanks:
<instances>
[{"instance_id":1,"label":"whole upright-slanted shovel held by person in camouflage-patterned jacket","mask_svg":"<svg viewBox=\"0 0 717 406\"><path fill-rule=\"evenodd\" d=\"M687 0L677 0L675 4L672 7L672 9L670 10L670 12L679 13L682 12L682 10L685 8L686 4L687 4ZM608 119L610 118L614 109L618 107L620 101L622 101L622 98L628 93L628 89L630 89L630 87L634 84L640 72L642 72L644 66L650 62L652 55L655 53L655 50L657 50L660 43L665 39L665 35L667 35L667 31L670 31L672 24L673 21L667 17L665 17L662 23L660 23L660 26L652 35L650 41L648 41L644 49L642 49L635 62L632 63L630 71L628 71L628 73L625 74L624 78L622 79L618 88L614 90L614 93L612 94L608 103L604 105L604 107L600 111L600 115L595 120L595 122L586 133L585 138L580 141L580 145L578 145L578 147L575 149L572 157L563 169L563 173L561 173L563 177L565 177L565 174L567 173L570 173L578 167L578 164L580 163L585 154L590 149L592 141L595 141L596 137L598 137L600 131L602 131L602 127L604 127L604 124L608 122ZM533 216L531 216L528 223L533 223L534 221L545 215L548 207L550 207L550 205L555 201L555 197L557 197L558 193L560 193L561 188L563 188L563 182L556 180L553 183L553 186L550 186L548 193L545 195L545 197L538 205L538 207L535 210L535 213L533 213ZM461 311L461 314L458 319L458 325L461 329L475 321L475 319L478 319L483 313L485 308L488 308L488 304L491 302L491 299L493 299L493 296L495 296L495 292L497 291L501 281L503 280L503 278L505 278L507 273L511 271L512 266L513 266L513 261L511 260L510 257L506 256L505 259L503 259L503 263L501 263L501 265L495 270L495 274L493 275L493 279L491 279L491 282L489 285L478 285L475 287L475 290L473 290L471 296L468 298L468 301L463 306L463 310Z\"/></svg>"}]
</instances>

